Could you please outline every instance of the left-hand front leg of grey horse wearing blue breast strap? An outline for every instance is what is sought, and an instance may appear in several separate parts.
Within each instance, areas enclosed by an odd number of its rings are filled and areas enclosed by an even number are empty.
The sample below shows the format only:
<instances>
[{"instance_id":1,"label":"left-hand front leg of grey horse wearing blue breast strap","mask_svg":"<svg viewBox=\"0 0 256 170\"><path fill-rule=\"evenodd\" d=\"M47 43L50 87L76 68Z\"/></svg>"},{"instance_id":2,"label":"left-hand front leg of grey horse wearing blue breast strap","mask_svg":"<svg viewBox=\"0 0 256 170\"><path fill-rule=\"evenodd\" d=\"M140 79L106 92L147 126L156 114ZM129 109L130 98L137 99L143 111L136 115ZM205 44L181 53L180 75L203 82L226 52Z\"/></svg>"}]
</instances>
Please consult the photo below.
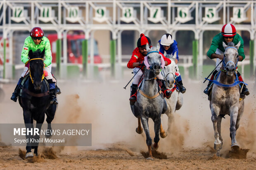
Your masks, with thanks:
<instances>
[{"instance_id":1,"label":"left-hand front leg of grey horse wearing blue breast strap","mask_svg":"<svg viewBox=\"0 0 256 170\"><path fill-rule=\"evenodd\" d=\"M219 133L217 128L217 121L218 121L218 115L220 114L220 107L212 104L211 105L211 121L213 122L213 129L214 129L214 149L220 150L222 148L221 141L219 139Z\"/></svg>"}]
</instances>

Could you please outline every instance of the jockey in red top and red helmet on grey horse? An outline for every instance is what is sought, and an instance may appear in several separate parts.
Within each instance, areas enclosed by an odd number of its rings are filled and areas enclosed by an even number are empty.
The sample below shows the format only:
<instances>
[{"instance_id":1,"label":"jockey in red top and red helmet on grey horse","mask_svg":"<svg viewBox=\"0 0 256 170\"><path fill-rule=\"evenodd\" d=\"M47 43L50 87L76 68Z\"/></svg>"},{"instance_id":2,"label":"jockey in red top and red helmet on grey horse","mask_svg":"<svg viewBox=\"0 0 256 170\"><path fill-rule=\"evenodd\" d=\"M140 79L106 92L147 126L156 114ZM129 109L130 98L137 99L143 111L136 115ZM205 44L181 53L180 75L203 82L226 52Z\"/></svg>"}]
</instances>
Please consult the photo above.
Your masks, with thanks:
<instances>
[{"instance_id":1,"label":"jockey in red top and red helmet on grey horse","mask_svg":"<svg viewBox=\"0 0 256 170\"><path fill-rule=\"evenodd\" d=\"M130 96L130 104L134 105L135 101L137 100L136 92L137 92L137 86L140 82L140 78L143 75L143 71L145 67L143 66L142 69L140 67L144 65L144 57L147 56L147 50L146 50L146 44L149 44L149 48L151 48L151 40L149 37L146 37L144 34L140 34L140 38L137 41L137 47L133 50L132 57L130 58L130 61L127 64L128 68L133 68L133 73L137 74L135 75L133 79L133 84L131 87L131 96ZM159 54L161 54L159 52ZM169 58L166 58L163 54L161 54L164 58L165 65L171 64L171 60ZM171 97L171 91L168 90L164 84L164 77L159 74L157 78L162 82L161 89L164 92L166 98Z\"/></svg>"}]
</instances>

